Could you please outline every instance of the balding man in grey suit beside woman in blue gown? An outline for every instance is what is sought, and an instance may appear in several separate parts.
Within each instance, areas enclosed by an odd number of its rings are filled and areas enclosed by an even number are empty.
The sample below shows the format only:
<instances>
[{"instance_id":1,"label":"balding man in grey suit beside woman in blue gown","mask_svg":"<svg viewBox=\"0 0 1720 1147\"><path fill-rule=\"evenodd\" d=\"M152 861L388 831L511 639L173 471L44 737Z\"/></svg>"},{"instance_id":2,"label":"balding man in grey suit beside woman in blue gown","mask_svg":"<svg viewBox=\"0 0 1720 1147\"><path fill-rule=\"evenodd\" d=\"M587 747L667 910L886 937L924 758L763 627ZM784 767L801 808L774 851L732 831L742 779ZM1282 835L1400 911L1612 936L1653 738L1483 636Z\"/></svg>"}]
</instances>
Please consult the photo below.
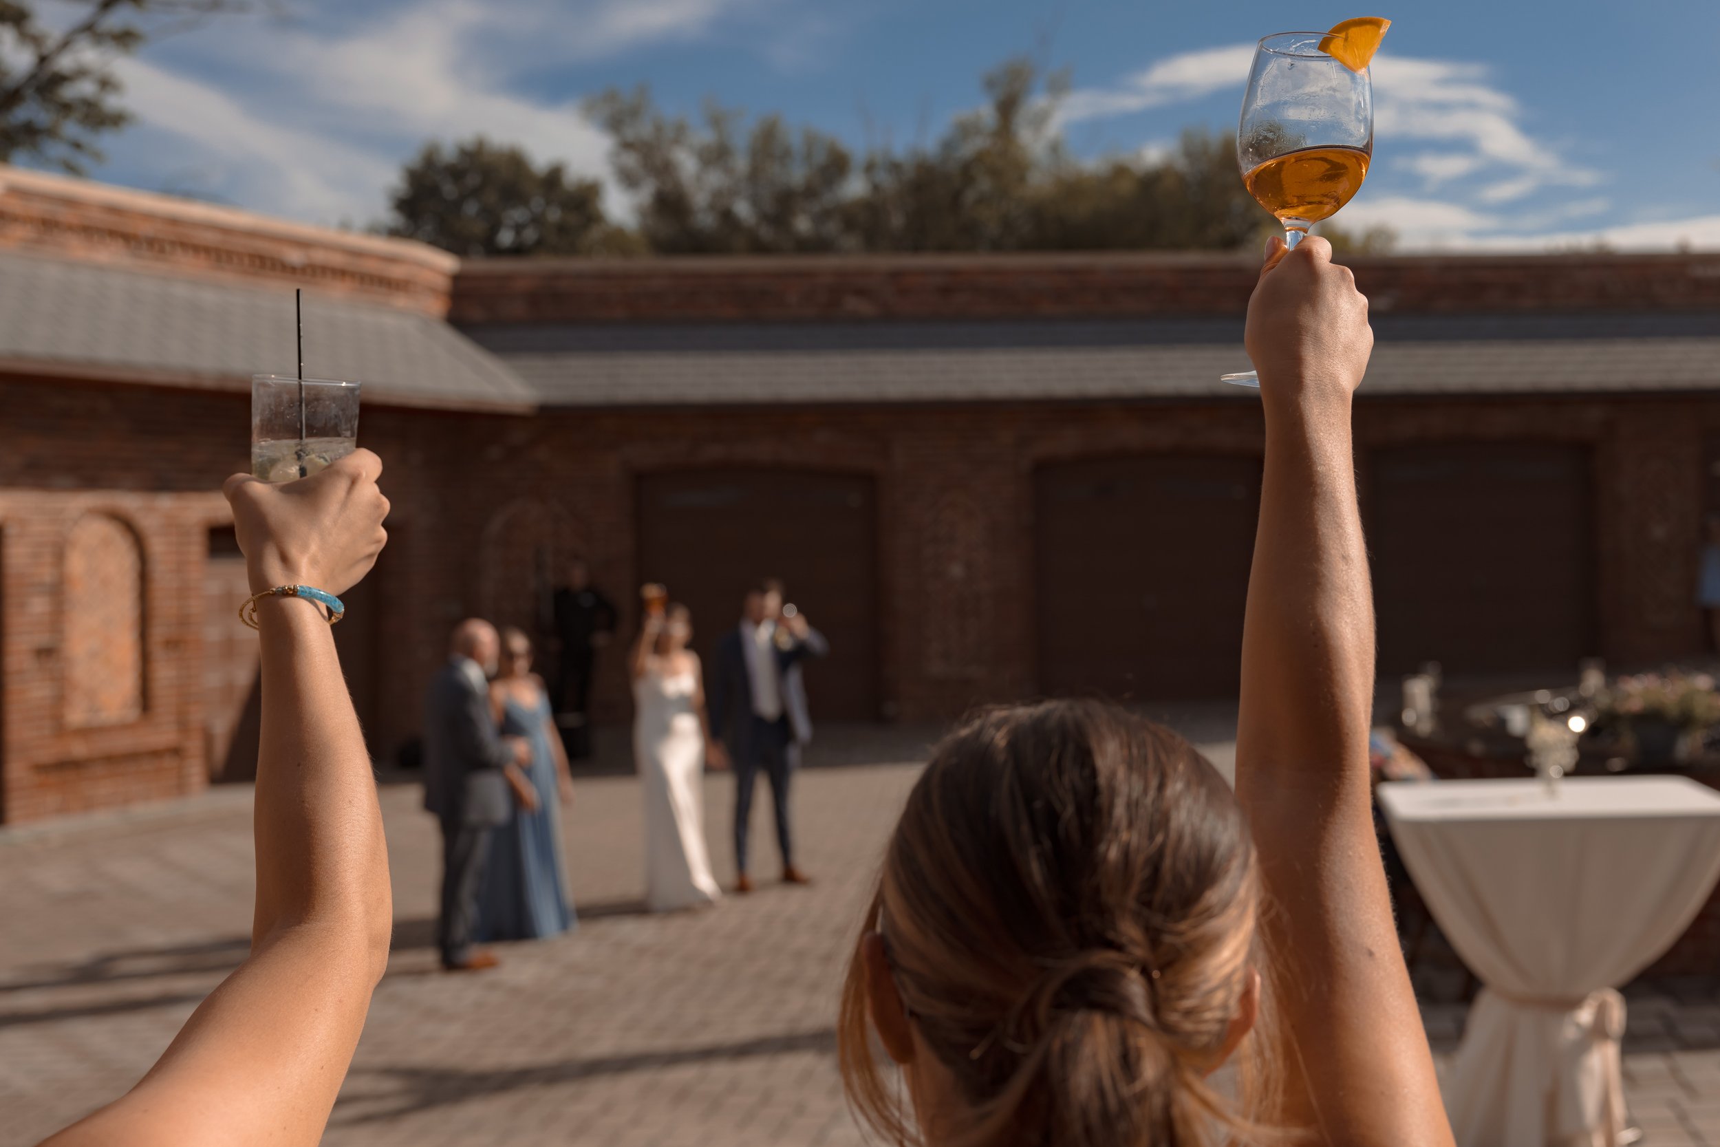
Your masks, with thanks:
<instances>
[{"instance_id":1,"label":"balding man in grey suit beside woman in blue gown","mask_svg":"<svg viewBox=\"0 0 1720 1147\"><path fill-rule=\"evenodd\" d=\"M494 954L471 948L490 832L514 815L516 800L528 808L537 803L519 772L531 748L523 738L504 738L490 710L488 681L501 650L495 626L475 617L459 623L447 664L425 696L425 808L442 824L437 944L449 972L497 965Z\"/></svg>"}]
</instances>

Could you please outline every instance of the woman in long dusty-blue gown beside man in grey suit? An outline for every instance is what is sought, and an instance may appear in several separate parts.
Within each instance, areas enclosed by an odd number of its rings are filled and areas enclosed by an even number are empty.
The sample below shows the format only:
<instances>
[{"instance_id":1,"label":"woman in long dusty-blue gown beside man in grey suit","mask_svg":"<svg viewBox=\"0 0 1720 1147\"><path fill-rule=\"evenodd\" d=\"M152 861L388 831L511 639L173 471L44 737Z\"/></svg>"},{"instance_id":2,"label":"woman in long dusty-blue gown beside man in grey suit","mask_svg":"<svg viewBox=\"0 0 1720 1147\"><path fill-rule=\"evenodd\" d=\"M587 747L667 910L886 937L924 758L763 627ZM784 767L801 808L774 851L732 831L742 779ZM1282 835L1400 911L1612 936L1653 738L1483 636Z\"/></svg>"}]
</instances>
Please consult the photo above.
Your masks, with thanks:
<instances>
[{"instance_id":1,"label":"woman in long dusty-blue gown beside man in grey suit","mask_svg":"<svg viewBox=\"0 0 1720 1147\"><path fill-rule=\"evenodd\" d=\"M531 672L531 640L519 629L502 629L501 662L490 703L504 734L531 743L531 765L525 772L537 807L518 801L514 819L490 836L478 898L478 937L531 941L574 925L561 858L559 810L573 798L573 779L544 681Z\"/></svg>"}]
</instances>

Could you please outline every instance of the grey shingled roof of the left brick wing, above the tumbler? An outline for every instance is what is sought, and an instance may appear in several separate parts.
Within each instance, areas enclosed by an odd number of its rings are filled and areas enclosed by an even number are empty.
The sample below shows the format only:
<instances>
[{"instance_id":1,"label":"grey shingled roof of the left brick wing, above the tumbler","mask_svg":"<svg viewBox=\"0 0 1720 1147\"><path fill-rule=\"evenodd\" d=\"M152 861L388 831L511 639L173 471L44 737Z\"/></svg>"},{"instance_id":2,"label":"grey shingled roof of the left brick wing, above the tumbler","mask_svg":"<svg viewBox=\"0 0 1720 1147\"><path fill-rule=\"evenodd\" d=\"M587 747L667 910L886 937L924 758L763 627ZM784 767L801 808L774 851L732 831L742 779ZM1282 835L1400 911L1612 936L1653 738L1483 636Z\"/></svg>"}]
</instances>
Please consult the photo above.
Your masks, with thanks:
<instances>
[{"instance_id":1,"label":"grey shingled roof of the left brick wing, above the tumbler","mask_svg":"<svg viewBox=\"0 0 1720 1147\"><path fill-rule=\"evenodd\" d=\"M91 261L0 253L0 368L114 382L246 389L291 375L292 289L229 285ZM304 296L304 373L356 378L389 406L528 411L537 396L447 323Z\"/></svg>"}]
</instances>

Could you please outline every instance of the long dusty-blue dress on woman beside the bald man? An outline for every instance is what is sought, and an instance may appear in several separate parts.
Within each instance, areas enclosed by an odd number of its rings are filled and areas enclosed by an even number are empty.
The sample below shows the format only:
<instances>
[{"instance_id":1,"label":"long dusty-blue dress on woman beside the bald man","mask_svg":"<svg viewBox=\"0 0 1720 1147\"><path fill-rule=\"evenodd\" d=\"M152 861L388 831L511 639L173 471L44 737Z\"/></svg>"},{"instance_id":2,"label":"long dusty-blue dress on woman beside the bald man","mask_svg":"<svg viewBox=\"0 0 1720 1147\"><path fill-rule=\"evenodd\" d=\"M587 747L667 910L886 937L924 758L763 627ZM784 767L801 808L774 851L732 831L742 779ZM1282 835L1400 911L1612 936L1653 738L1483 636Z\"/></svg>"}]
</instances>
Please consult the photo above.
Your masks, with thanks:
<instances>
[{"instance_id":1,"label":"long dusty-blue dress on woman beside the bald man","mask_svg":"<svg viewBox=\"0 0 1720 1147\"><path fill-rule=\"evenodd\" d=\"M542 693L535 707L511 696L502 705L502 734L531 743L526 776L538 793L538 810L516 808L514 819L490 834L490 862L478 896L478 939L485 942L544 939L576 923L561 863L561 796L549 721Z\"/></svg>"}]
</instances>

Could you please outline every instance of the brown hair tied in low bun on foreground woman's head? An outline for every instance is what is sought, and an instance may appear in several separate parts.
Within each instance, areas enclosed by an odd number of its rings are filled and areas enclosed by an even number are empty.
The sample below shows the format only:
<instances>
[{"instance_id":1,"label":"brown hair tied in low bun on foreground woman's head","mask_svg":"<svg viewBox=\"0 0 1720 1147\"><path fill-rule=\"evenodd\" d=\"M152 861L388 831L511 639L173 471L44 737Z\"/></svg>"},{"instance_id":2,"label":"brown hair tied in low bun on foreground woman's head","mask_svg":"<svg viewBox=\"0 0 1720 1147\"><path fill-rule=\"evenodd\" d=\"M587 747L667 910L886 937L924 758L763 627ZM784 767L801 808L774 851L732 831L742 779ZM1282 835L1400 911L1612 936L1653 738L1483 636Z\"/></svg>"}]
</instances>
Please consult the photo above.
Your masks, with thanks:
<instances>
[{"instance_id":1,"label":"brown hair tied in low bun on foreground woman's head","mask_svg":"<svg viewBox=\"0 0 1720 1147\"><path fill-rule=\"evenodd\" d=\"M1099 702L979 714L915 784L850 961L850 1106L886 1142L920 1142L870 1039L863 948L882 930L903 1008L956 1082L939 1147L1259 1135L1261 1039L1237 1051L1242 1104L1206 1078L1261 963L1259 903L1242 810L1178 734Z\"/></svg>"}]
</instances>

